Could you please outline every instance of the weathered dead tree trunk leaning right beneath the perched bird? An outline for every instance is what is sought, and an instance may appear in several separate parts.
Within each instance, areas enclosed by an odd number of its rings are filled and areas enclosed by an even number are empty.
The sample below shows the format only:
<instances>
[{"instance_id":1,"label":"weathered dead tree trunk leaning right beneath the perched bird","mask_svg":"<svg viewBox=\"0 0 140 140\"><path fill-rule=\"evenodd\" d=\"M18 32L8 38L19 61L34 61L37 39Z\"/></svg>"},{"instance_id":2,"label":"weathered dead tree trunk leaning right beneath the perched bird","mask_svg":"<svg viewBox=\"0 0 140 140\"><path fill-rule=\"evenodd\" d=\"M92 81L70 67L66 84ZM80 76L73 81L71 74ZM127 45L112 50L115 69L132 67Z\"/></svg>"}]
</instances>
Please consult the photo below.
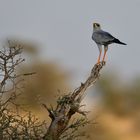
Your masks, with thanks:
<instances>
[{"instance_id":1,"label":"weathered dead tree trunk leaning right beneath the perched bird","mask_svg":"<svg viewBox=\"0 0 140 140\"><path fill-rule=\"evenodd\" d=\"M91 73L84 83L81 83L80 87L74 90L68 95L60 97L57 101L57 106L48 108L45 104L43 106L49 112L49 117L51 118L51 124L44 136L45 140L60 140L62 135L70 128L70 120L72 116L77 112L82 115L86 115L87 112L82 111L81 101L83 100L87 88L95 84L100 76L100 70L105 65L105 62L95 64L91 70ZM70 134L69 134L70 135ZM65 136L65 135L64 135ZM67 138L68 139L68 138ZM69 139L72 140L69 137Z\"/></svg>"}]
</instances>

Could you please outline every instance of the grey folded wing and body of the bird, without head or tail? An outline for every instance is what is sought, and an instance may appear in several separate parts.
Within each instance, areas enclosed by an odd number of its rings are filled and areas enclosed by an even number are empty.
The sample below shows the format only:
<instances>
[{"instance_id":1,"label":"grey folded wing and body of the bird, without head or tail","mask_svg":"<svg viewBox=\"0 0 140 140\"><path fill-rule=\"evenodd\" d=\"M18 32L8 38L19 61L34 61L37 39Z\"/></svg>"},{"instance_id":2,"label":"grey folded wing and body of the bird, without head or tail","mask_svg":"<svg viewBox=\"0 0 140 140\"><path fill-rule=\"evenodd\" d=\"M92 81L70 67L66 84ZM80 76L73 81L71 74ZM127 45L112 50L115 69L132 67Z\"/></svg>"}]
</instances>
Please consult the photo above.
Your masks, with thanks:
<instances>
[{"instance_id":1,"label":"grey folded wing and body of the bird, without head or tail","mask_svg":"<svg viewBox=\"0 0 140 140\"><path fill-rule=\"evenodd\" d=\"M94 32L92 38L93 40L95 40L96 43L100 44L109 43L115 39L115 37L113 37L110 33L103 30Z\"/></svg>"}]
</instances>

